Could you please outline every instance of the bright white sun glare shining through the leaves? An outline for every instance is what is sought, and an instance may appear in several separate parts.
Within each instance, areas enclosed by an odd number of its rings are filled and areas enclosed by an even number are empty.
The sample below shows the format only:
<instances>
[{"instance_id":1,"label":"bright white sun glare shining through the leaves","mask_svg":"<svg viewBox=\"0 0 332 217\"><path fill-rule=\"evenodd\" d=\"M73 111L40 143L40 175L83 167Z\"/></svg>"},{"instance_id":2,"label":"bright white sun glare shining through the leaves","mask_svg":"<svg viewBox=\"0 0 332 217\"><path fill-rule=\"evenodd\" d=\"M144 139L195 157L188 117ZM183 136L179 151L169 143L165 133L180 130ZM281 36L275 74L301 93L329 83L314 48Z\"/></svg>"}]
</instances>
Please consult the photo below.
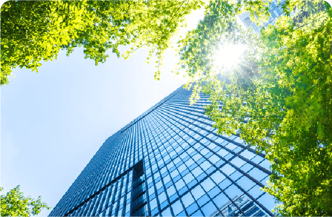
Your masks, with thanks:
<instances>
[{"instance_id":1,"label":"bright white sun glare shining through the leaves","mask_svg":"<svg viewBox=\"0 0 332 217\"><path fill-rule=\"evenodd\" d=\"M224 45L217 52L215 64L219 69L230 69L238 63L240 56L245 50L246 48L243 44Z\"/></svg>"}]
</instances>

